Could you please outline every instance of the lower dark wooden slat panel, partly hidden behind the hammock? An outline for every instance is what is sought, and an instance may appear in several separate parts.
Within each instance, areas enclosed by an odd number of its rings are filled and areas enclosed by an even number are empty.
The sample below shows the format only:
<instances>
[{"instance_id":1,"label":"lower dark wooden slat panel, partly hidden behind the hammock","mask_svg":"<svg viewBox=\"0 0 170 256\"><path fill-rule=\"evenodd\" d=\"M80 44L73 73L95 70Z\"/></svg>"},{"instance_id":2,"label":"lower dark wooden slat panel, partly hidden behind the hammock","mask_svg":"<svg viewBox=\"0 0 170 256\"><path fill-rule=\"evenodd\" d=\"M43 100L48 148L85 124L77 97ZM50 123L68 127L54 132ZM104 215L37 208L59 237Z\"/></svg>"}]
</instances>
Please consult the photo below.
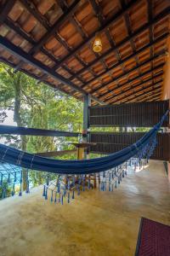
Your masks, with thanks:
<instances>
[{"instance_id":1,"label":"lower dark wooden slat panel, partly hidden behind the hammock","mask_svg":"<svg viewBox=\"0 0 170 256\"><path fill-rule=\"evenodd\" d=\"M127 146L135 143L140 137L144 136L144 132L91 132L90 143L96 143L95 146L90 147L90 153L97 154L111 154L122 150ZM169 160L170 152L170 136L169 133L157 134L157 146L151 159Z\"/></svg>"}]
</instances>

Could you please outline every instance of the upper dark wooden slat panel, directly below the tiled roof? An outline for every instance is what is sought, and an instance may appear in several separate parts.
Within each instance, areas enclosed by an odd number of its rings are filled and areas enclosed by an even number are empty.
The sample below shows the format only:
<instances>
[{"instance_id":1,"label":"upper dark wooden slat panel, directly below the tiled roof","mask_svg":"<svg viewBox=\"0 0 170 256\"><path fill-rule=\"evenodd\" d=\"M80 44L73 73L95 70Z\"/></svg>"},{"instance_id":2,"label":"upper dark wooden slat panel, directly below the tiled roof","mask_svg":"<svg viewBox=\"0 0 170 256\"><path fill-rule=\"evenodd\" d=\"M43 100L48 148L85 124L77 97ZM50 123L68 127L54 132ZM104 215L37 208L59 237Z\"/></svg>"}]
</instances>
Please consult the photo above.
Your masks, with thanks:
<instances>
[{"instance_id":1,"label":"upper dark wooden slat panel, directly below the tiled roof","mask_svg":"<svg viewBox=\"0 0 170 256\"><path fill-rule=\"evenodd\" d=\"M152 127L169 107L169 101L89 107L89 126ZM168 120L162 126L166 127Z\"/></svg>"}]
</instances>

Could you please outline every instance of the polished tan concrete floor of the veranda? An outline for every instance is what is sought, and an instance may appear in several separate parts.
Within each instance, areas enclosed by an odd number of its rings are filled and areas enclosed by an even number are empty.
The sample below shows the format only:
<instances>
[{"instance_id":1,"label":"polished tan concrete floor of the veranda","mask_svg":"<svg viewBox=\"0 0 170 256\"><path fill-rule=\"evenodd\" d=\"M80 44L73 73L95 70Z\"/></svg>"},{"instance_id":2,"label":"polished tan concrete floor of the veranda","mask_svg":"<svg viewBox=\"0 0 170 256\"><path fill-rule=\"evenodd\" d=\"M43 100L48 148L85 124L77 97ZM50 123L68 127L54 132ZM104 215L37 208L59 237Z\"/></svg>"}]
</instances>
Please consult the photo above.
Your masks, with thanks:
<instances>
[{"instance_id":1,"label":"polished tan concrete floor of the veranda","mask_svg":"<svg viewBox=\"0 0 170 256\"><path fill-rule=\"evenodd\" d=\"M31 195L0 201L1 256L131 256L141 216L170 225L170 185L161 161L131 172L114 192L83 192L54 205Z\"/></svg>"}]
</instances>

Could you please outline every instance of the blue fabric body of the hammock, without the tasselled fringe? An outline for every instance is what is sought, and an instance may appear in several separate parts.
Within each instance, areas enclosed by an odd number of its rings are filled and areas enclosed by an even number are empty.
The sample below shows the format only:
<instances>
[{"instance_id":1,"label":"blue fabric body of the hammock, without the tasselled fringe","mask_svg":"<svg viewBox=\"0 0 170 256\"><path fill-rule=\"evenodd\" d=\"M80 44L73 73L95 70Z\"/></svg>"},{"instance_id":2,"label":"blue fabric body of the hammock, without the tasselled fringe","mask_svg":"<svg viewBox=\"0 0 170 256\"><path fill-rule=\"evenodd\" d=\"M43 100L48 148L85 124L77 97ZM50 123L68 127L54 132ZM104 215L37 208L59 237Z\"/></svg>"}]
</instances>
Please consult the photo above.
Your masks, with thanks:
<instances>
[{"instance_id":1,"label":"blue fabric body of the hammock, without the tasselled fringe","mask_svg":"<svg viewBox=\"0 0 170 256\"><path fill-rule=\"evenodd\" d=\"M115 166L122 165L134 156L138 156L139 159L149 158L156 146L156 133L160 130L164 119L167 118L167 113L168 111L163 115L161 121L138 142L105 157L92 160L51 160L0 144L0 160L14 166L58 174L82 175L105 172Z\"/></svg>"}]
</instances>

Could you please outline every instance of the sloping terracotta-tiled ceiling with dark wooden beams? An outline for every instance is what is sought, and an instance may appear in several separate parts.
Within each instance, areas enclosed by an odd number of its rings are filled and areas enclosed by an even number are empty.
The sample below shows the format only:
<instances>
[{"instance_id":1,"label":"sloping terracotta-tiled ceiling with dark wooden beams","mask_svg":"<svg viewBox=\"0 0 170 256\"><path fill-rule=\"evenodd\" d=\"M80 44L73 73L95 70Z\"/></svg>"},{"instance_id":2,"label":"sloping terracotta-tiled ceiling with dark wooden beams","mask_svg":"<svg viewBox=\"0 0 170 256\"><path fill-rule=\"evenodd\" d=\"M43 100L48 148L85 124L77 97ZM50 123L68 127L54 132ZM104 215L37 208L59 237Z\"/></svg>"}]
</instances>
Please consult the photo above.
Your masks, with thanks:
<instances>
[{"instance_id":1,"label":"sloping terracotta-tiled ceiling with dark wooden beams","mask_svg":"<svg viewBox=\"0 0 170 256\"><path fill-rule=\"evenodd\" d=\"M94 104L157 101L169 14L169 0L0 0L0 61Z\"/></svg>"}]
</instances>

